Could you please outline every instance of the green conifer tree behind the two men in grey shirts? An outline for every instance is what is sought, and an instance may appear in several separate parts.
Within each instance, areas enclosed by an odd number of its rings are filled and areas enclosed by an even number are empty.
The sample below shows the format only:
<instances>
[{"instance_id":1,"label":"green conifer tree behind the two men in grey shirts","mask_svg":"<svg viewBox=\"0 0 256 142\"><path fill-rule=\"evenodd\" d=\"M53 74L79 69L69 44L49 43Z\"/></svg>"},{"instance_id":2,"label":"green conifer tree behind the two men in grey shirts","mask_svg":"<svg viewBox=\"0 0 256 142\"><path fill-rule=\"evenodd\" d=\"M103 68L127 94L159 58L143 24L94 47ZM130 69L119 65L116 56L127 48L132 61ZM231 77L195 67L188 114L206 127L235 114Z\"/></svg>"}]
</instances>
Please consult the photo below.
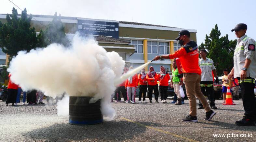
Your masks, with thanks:
<instances>
[{"instance_id":1,"label":"green conifer tree behind the two men in grey shirts","mask_svg":"<svg viewBox=\"0 0 256 142\"><path fill-rule=\"evenodd\" d=\"M229 40L228 35L220 37L221 32L216 24L209 36L206 35L205 43L201 43L199 49L208 51L207 57L212 59L218 75L223 75L223 69L233 68L233 56L236 48L236 40Z\"/></svg>"}]
</instances>

